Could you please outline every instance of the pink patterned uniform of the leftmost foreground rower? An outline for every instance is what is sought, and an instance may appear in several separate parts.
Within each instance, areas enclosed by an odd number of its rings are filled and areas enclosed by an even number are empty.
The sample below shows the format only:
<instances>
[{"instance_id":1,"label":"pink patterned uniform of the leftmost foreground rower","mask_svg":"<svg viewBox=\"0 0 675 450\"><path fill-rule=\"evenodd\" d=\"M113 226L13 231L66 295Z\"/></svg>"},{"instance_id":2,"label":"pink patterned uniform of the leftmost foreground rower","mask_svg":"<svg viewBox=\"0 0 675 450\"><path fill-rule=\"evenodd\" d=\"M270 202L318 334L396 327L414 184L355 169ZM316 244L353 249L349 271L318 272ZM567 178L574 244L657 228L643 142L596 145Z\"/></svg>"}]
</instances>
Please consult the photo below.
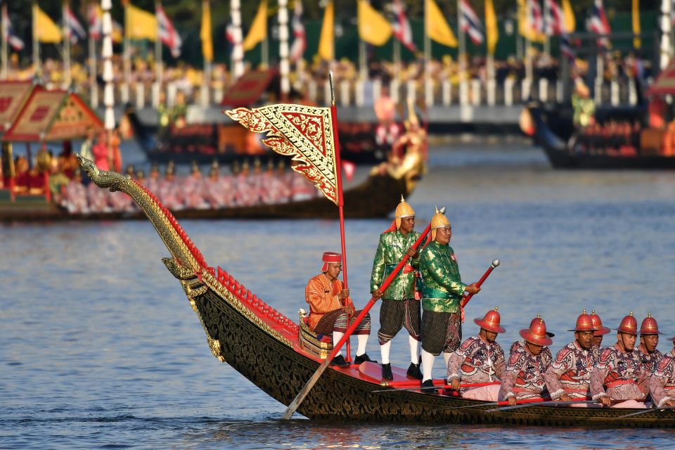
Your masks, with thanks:
<instances>
[{"instance_id":1,"label":"pink patterned uniform of the leftmost foreground rower","mask_svg":"<svg viewBox=\"0 0 675 450\"><path fill-rule=\"evenodd\" d=\"M468 338L450 356L448 383L461 379L463 383L490 383L504 376L504 351L496 342L485 342L480 336ZM461 391L467 399L496 401L499 385L470 387Z\"/></svg>"}]
</instances>

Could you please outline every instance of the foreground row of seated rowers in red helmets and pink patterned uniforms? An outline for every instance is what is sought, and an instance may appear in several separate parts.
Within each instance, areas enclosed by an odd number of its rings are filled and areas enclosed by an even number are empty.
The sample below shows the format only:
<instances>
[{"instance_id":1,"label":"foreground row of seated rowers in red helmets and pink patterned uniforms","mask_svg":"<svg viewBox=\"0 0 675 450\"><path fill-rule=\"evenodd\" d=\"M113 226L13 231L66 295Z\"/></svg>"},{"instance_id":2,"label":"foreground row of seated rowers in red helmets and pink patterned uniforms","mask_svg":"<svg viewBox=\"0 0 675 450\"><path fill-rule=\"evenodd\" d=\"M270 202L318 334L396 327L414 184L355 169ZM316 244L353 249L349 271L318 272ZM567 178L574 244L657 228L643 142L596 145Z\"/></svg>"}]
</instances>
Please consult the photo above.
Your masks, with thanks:
<instances>
[{"instance_id":1,"label":"foreground row of seated rowers in red helmets and pink patterned uniforms","mask_svg":"<svg viewBox=\"0 0 675 450\"><path fill-rule=\"evenodd\" d=\"M660 332L650 314L639 329L632 312L625 316L615 328L616 342L601 348L610 328L603 326L595 311L586 314L584 310L570 330L574 340L555 359L548 348L553 333L546 330L539 314L529 328L520 330L522 340L511 345L508 360L495 341L497 334L505 331L497 309L474 322L480 326L480 333L451 354L447 367L447 383L461 390L465 398L506 400L513 405L525 399L550 397L578 401L571 405L577 407L675 406L675 349L665 355L657 350ZM670 340L675 343L675 338ZM461 387L490 383L495 377L501 383Z\"/></svg>"}]
</instances>

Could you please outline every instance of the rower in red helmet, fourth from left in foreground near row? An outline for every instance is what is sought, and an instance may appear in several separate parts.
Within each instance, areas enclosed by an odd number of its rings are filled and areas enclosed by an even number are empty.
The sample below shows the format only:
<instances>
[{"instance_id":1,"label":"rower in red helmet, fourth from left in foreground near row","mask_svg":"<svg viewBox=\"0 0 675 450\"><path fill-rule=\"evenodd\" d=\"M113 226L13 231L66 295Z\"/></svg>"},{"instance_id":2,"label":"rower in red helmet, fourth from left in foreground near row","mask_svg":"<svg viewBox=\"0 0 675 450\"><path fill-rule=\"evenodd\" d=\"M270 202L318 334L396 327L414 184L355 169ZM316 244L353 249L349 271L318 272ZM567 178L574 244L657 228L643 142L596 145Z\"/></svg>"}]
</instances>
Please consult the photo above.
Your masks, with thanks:
<instances>
[{"instance_id":1,"label":"rower in red helmet, fourth from left in foreground near row","mask_svg":"<svg viewBox=\"0 0 675 450\"><path fill-rule=\"evenodd\" d=\"M617 343L602 349L591 373L592 398L612 408L645 408L649 378L634 349L638 322L632 311L617 331Z\"/></svg>"}]
</instances>

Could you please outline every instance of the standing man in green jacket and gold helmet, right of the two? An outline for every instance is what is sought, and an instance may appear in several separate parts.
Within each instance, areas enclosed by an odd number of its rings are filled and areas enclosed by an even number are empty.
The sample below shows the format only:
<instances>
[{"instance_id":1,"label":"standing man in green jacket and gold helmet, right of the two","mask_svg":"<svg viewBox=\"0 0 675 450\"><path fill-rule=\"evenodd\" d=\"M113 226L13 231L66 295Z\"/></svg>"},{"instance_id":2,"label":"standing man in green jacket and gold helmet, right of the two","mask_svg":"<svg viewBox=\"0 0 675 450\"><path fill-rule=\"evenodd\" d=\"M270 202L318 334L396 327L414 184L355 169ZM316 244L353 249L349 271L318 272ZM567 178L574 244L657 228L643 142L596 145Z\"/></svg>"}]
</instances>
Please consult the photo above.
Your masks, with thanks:
<instances>
[{"instance_id":1,"label":"standing man in green jacket and gold helmet, right of the two","mask_svg":"<svg viewBox=\"0 0 675 450\"><path fill-rule=\"evenodd\" d=\"M466 291L480 291L476 283L462 283L455 252L449 246L450 221L436 210L431 221L432 242L420 252L422 288L422 387L433 387L434 359L441 352L447 371L451 354L462 339L461 300Z\"/></svg>"}]
</instances>

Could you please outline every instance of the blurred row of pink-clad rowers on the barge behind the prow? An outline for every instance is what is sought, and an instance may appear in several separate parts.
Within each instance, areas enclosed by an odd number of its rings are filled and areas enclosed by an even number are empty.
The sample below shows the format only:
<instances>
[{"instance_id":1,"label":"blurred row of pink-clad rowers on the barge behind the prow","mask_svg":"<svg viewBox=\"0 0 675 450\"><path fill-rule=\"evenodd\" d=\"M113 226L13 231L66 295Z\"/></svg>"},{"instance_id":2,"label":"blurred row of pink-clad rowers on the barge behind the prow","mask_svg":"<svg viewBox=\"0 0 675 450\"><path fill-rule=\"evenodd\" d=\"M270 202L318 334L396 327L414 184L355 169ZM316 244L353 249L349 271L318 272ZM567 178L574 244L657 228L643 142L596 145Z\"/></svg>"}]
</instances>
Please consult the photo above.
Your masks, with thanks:
<instances>
[{"instance_id":1,"label":"blurred row of pink-clad rowers on the barge behind the prow","mask_svg":"<svg viewBox=\"0 0 675 450\"><path fill-rule=\"evenodd\" d=\"M247 161L242 165L235 162L231 173L223 174L214 161L209 175L203 176L199 166L193 162L191 174L176 176L175 165L169 162L164 176L160 176L157 165L153 165L147 177L143 171L134 171L134 167L127 166L127 175L146 186L169 210L174 211L280 204L319 195L319 191L304 176L296 176L293 171L287 170L283 160L276 167L269 160L264 171L260 161L255 160L252 170ZM136 203L125 193L110 193L94 184L85 186L79 171L60 189L60 197L57 194L55 198L72 214L138 210Z\"/></svg>"}]
</instances>

